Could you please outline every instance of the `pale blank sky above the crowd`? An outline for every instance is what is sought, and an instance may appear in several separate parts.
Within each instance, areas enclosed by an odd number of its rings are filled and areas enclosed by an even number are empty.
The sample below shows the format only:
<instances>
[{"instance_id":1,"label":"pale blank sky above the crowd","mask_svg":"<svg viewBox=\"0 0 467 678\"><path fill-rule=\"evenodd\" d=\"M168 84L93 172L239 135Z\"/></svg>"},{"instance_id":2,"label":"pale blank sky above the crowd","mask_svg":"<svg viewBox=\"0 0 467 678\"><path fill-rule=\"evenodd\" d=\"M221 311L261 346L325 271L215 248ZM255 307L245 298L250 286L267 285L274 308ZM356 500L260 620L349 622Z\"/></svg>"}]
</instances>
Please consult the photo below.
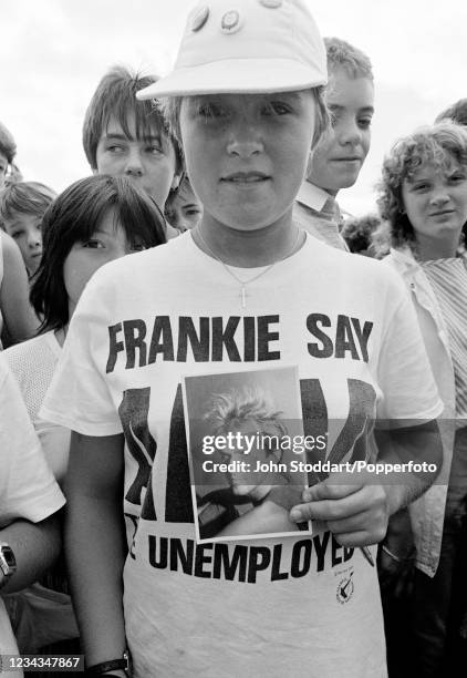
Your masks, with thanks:
<instances>
[{"instance_id":1,"label":"pale blank sky above the crowd","mask_svg":"<svg viewBox=\"0 0 467 678\"><path fill-rule=\"evenodd\" d=\"M375 208L374 186L393 142L467 96L467 2L307 2L323 35L352 42L373 62L372 148L357 184L340 193L344 209L365 214ZM165 74L195 3L0 0L0 120L15 137L25 179L62 191L90 174L81 126L98 80L115 63Z\"/></svg>"}]
</instances>

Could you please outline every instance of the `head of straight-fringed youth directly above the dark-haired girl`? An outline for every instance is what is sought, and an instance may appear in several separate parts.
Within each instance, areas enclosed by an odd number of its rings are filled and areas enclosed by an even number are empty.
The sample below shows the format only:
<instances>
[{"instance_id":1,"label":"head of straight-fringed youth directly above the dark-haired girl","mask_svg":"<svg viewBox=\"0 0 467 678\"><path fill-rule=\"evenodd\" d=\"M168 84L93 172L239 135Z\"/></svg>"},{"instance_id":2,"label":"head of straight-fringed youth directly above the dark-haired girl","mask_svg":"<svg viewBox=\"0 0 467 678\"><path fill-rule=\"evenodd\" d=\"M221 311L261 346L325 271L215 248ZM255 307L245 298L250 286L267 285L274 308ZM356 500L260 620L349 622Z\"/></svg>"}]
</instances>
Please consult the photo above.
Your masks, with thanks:
<instances>
[{"instance_id":1,"label":"head of straight-fringed youth directly above the dark-haired girl","mask_svg":"<svg viewBox=\"0 0 467 678\"><path fill-rule=\"evenodd\" d=\"M94 174L124 175L146 191L164 212L183 174L181 151L162 114L136 92L156 82L123 66L97 85L83 124L83 147ZM178 232L167 224L167 238Z\"/></svg>"}]
</instances>

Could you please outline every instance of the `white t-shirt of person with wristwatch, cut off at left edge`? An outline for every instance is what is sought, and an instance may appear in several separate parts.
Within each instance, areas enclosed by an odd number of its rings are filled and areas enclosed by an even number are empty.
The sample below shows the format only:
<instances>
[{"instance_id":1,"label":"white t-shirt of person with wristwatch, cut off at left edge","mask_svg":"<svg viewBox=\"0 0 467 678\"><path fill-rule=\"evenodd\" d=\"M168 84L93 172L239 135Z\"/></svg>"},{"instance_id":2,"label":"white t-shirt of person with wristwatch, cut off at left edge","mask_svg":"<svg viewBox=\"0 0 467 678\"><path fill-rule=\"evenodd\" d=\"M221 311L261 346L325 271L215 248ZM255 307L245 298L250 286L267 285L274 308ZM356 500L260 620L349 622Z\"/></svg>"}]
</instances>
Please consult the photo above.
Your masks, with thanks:
<instances>
[{"instance_id":1,"label":"white t-shirt of person with wristwatch, cut off at left edge","mask_svg":"<svg viewBox=\"0 0 467 678\"><path fill-rule=\"evenodd\" d=\"M18 518L38 523L65 503L3 355L0 355L0 528ZM0 654L18 654L1 599Z\"/></svg>"}]
</instances>

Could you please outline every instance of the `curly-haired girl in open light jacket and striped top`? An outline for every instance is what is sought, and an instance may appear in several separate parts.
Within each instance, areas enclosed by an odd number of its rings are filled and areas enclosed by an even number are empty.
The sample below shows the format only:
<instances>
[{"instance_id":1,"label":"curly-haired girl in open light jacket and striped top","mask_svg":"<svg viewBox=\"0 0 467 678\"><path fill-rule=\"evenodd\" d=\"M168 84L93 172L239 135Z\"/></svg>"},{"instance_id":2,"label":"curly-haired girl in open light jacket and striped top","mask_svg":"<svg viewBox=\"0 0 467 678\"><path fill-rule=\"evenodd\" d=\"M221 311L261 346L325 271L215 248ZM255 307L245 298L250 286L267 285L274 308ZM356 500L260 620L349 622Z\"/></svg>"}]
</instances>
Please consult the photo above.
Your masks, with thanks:
<instances>
[{"instance_id":1,"label":"curly-haired girl in open light jacket and striped top","mask_svg":"<svg viewBox=\"0 0 467 678\"><path fill-rule=\"evenodd\" d=\"M446 662L455 661L466 567L459 558L467 513L467 130L445 122L402 138L384 162L378 202L392 240L385 261L411 292L444 402L443 471L409 507L412 589L403 609L385 596L390 659L394 676L452 676ZM387 535L382 557L394 576L407 566L409 536L399 528Z\"/></svg>"}]
</instances>

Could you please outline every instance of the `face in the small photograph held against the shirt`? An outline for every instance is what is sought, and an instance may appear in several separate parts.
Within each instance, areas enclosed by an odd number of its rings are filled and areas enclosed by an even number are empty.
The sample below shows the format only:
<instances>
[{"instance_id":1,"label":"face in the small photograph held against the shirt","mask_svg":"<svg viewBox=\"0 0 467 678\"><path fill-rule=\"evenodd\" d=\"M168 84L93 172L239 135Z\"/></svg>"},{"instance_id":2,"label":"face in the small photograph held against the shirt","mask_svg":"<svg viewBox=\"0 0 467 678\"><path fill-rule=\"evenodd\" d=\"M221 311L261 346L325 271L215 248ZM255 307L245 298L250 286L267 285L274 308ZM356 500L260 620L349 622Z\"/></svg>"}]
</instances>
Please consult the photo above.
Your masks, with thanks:
<instances>
[{"instance_id":1,"label":"face in the small photograph held against the shirt","mask_svg":"<svg viewBox=\"0 0 467 678\"><path fill-rule=\"evenodd\" d=\"M258 435L259 432L259 435ZM278 462L279 454L276 450L270 450L268 446L268 439L262 439L262 435L279 436L280 433L273 424L259 423L255 419L247 419L245 421L234 422L231 429L226 434L232 433L237 435L240 433L243 441L253 440L253 444L250 449L250 443L243 444L242 448L236 448L235 450L226 449L222 451L222 461L229 462L246 462L248 471L242 470L240 463L237 464L238 470L230 471L227 474L229 485L232 489L234 494L238 496L250 496L252 500L263 499L274 483L274 473L269 473L264 470L256 471L257 463L266 463L269 465L270 462ZM249 450L248 454L247 451Z\"/></svg>"}]
</instances>

